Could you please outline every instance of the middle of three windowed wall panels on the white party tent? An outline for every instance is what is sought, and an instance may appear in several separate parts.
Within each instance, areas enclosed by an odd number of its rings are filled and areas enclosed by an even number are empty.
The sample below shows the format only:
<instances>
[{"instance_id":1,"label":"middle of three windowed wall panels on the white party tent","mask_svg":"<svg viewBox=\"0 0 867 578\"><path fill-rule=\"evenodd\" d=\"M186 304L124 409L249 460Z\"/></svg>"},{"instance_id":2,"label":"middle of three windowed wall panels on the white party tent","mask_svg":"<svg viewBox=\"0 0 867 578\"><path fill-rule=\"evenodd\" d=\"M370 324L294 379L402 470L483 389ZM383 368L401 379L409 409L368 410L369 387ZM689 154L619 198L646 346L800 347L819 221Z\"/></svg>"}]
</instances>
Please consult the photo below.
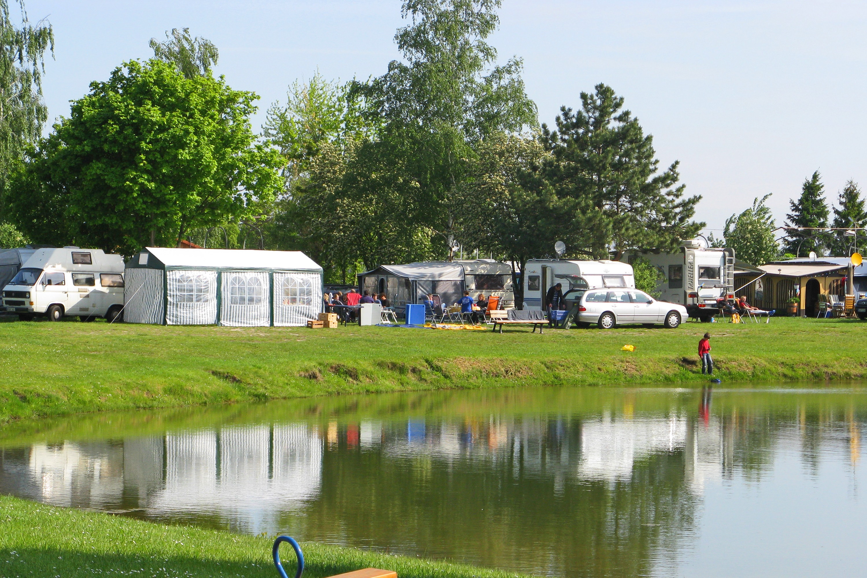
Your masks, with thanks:
<instances>
[{"instance_id":1,"label":"middle of three windowed wall panels on the white party tent","mask_svg":"<svg viewBox=\"0 0 867 578\"><path fill-rule=\"evenodd\" d=\"M223 271L219 324L229 327L271 325L268 274L263 271Z\"/></svg>"}]
</instances>

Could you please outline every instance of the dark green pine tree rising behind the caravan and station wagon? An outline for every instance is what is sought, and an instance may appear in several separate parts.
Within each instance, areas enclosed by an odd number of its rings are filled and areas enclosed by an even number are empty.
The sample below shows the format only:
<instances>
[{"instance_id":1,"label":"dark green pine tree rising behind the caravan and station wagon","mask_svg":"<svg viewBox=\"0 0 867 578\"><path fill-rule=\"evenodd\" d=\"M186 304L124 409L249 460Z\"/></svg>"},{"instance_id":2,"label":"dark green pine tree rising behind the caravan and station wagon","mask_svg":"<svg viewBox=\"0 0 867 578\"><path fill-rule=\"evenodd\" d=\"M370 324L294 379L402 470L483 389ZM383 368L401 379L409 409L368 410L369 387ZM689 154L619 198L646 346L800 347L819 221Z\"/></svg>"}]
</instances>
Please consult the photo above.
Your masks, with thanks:
<instances>
[{"instance_id":1,"label":"dark green pine tree rising behind the caravan and station wagon","mask_svg":"<svg viewBox=\"0 0 867 578\"><path fill-rule=\"evenodd\" d=\"M684 197L675 161L658 172L653 137L623 109L623 97L604 84L581 93L575 112L562 107L557 130L543 126L542 138L556 162L548 179L560 197L585 199L603 215L605 227L584 249L616 259L629 249L675 250L704 226L691 219L701 197Z\"/></svg>"}]
</instances>

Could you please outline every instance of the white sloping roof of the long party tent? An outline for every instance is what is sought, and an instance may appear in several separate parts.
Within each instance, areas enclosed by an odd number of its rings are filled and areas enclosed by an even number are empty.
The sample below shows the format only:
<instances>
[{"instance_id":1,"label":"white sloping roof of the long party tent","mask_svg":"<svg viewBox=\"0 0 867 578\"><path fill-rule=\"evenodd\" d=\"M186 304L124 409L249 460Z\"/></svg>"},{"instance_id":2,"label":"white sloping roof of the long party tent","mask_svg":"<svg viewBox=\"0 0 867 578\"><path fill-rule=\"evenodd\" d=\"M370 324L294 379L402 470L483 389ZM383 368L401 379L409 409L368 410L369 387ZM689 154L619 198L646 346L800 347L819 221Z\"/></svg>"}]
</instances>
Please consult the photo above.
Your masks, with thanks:
<instances>
[{"instance_id":1,"label":"white sloping roof of the long party tent","mask_svg":"<svg viewBox=\"0 0 867 578\"><path fill-rule=\"evenodd\" d=\"M213 267L219 269L285 269L321 271L322 267L301 251L248 249L167 249L147 247L166 267ZM135 257L134 257L135 259Z\"/></svg>"}]
</instances>

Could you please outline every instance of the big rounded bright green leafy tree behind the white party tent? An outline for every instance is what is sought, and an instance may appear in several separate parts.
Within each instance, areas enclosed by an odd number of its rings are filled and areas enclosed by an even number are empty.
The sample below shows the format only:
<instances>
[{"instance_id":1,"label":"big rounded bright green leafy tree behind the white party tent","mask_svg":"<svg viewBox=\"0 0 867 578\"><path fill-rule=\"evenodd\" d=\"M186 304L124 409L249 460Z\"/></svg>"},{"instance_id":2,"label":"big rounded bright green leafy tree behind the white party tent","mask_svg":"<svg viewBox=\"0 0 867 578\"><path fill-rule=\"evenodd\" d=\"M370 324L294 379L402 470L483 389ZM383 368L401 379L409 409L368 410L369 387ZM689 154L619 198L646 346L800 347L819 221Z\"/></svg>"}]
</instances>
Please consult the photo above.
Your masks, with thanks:
<instances>
[{"instance_id":1,"label":"big rounded bright green leafy tree behind the white party tent","mask_svg":"<svg viewBox=\"0 0 867 578\"><path fill-rule=\"evenodd\" d=\"M282 159L251 131L256 99L160 60L126 62L16 172L16 224L36 242L131 254L257 214L280 189Z\"/></svg>"}]
</instances>

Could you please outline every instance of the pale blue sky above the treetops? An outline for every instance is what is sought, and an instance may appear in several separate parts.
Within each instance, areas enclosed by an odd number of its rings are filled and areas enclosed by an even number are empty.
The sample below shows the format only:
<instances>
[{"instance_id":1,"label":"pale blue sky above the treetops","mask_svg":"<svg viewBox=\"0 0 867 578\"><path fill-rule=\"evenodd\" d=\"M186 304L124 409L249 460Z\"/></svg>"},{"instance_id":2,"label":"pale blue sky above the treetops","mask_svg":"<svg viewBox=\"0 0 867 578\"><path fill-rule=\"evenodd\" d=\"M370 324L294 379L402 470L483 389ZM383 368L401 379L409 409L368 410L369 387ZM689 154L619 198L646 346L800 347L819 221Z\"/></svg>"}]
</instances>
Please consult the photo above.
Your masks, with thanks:
<instances>
[{"instance_id":1,"label":"pale blue sky above the treetops","mask_svg":"<svg viewBox=\"0 0 867 578\"><path fill-rule=\"evenodd\" d=\"M55 30L43 89L49 119L108 79L148 41L189 27L219 49L214 72L262 98L253 119L316 70L329 79L381 75L400 57L399 0L26 0ZM772 193L789 199L819 171L831 204L849 179L867 186L867 3L503 0L489 38L499 61L524 60L539 121L580 106L600 82L653 134L661 168L680 161L696 220L720 236L726 218Z\"/></svg>"}]
</instances>

